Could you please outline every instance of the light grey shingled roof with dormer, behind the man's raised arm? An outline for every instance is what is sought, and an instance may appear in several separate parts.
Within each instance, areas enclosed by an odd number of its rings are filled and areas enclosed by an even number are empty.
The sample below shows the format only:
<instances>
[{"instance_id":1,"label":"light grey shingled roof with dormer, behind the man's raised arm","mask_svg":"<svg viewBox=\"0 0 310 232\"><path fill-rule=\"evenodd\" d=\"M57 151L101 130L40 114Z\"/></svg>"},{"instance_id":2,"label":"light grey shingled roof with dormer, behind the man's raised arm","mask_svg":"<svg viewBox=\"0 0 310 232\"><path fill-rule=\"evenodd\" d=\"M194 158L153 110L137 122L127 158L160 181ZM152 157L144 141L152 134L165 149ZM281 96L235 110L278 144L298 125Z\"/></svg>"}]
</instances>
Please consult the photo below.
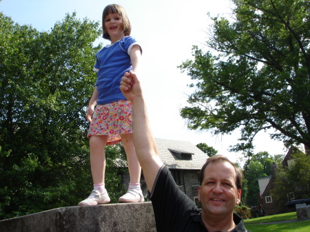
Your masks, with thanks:
<instances>
[{"instance_id":1,"label":"light grey shingled roof with dormer, behind the man's raised arm","mask_svg":"<svg viewBox=\"0 0 310 232\"><path fill-rule=\"evenodd\" d=\"M159 157L169 169L200 170L209 158L188 141L155 138Z\"/></svg>"}]
</instances>

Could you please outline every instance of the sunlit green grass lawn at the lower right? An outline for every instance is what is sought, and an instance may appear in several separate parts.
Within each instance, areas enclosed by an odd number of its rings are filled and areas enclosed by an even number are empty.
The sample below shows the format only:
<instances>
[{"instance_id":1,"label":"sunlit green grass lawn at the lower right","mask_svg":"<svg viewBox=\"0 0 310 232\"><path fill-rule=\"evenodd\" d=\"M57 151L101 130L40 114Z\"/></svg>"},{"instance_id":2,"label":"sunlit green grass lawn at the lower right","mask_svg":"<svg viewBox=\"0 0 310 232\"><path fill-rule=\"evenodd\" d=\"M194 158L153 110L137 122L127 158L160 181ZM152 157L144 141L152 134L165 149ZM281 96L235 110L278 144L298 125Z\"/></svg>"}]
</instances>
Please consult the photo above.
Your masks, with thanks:
<instances>
[{"instance_id":1,"label":"sunlit green grass lawn at the lower right","mask_svg":"<svg viewBox=\"0 0 310 232\"><path fill-rule=\"evenodd\" d=\"M279 222L297 219L296 212L282 213L262 218L244 220L245 228L252 232L306 232L310 231L310 220L296 222ZM278 222L275 224L263 224L263 222Z\"/></svg>"}]
</instances>

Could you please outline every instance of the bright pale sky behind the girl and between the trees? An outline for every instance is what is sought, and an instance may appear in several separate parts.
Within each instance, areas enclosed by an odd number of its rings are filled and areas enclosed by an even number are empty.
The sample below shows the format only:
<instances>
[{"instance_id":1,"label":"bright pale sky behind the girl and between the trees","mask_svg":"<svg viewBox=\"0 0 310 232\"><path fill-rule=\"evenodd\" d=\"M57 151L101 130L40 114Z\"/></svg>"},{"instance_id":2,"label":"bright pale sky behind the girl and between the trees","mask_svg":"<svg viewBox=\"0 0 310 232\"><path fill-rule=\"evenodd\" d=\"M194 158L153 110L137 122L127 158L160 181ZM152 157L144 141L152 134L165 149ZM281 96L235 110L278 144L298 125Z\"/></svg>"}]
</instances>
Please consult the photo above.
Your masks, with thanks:
<instances>
[{"instance_id":1,"label":"bright pale sky behind the girl and between the trees","mask_svg":"<svg viewBox=\"0 0 310 232\"><path fill-rule=\"evenodd\" d=\"M192 131L180 116L180 109L188 105L187 95L192 89L190 76L177 68L192 59L192 45L205 46L211 20L207 16L231 15L229 0L2 0L0 12L12 17L20 25L32 25L39 31L50 31L65 14L76 12L79 19L101 23L105 6L116 3L127 10L132 23L132 34L143 50L141 83L147 104L149 123L155 138L190 141L194 145L206 143L234 162L241 152L229 152L236 145L240 131L231 135L214 136L211 131ZM110 44L103 38L96 43ZM214 51L211 51L214 52ZM92 67L90 67L92 68ZM91 96L90 96L91 97ZM273 132L273 131L269 131ZM286 154L282 142L271 140L267 132L259 132L254 140L254 152L268 151L271 155Z\"/></svg>"}]
</instances>

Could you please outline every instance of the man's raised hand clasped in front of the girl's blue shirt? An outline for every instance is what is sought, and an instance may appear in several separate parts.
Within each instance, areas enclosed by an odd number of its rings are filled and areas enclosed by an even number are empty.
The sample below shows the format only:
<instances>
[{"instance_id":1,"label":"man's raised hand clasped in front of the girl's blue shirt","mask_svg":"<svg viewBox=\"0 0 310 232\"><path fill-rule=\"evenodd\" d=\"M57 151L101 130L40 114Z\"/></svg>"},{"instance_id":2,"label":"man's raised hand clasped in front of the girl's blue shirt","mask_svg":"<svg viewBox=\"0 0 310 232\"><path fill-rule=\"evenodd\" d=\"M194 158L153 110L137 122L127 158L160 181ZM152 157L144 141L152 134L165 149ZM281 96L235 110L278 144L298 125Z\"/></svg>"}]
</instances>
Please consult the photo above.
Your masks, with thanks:
<instances>
[{"instance_id":1,"label":"man's raised hand clasped in front of the girl's blue shirt","mask_svg":"<svg viewBox=\"0 0 310 232\"><path fill-rule=\"evenodd\" d=\"M120 89L125 98L131 102L134 101L136 97L142 96L140 81L138 81L136 74L132 71L125 72L122 77Z\"/></svg>"}]
</instances>

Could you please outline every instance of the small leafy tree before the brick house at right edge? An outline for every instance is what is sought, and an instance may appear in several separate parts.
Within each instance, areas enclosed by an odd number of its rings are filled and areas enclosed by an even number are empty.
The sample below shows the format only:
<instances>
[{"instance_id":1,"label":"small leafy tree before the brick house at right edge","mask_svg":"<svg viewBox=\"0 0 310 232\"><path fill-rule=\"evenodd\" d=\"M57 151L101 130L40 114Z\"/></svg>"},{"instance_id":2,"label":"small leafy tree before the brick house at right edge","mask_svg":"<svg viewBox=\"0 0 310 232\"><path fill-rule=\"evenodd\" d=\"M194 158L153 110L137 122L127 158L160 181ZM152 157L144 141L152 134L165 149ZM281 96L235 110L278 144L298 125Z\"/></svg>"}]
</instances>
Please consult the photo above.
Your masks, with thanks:
<instances>
[{"instance_id":1,"label":"small leafy tree before the brick house at right edge","mask_svg":"<svg viewBox=\"0 0 310 232\"><path fill-rule=\"evenodd\" d=\"M289 167L278 167L271 196L284 209L290 193L295 200L310 198L310 156L299 150L292 154Z\"/></svg>"}]
</instances>

